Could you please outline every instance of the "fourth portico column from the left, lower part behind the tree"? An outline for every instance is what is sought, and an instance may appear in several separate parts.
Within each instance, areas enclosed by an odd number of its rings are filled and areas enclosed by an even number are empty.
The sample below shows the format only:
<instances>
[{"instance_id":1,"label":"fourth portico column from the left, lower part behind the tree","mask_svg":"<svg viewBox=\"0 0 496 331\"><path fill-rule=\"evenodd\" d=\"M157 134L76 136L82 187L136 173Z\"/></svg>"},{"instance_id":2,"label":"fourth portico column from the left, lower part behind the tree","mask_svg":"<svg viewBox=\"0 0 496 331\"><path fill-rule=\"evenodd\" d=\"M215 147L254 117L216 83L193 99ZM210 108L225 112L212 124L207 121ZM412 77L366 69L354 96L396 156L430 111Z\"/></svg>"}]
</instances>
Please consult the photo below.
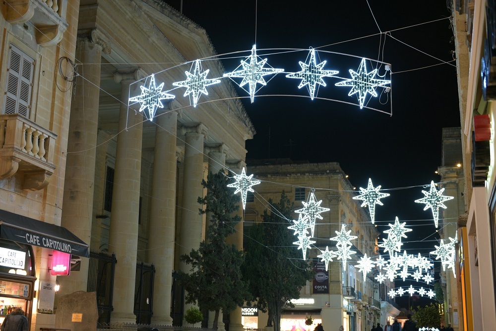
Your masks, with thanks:
<instances>
[{"instance_id":1,"label":"fourth portico column from the left, lower part behind the tree","mask_svg":"<svg viewBox=\"0 0 496 331\"><path fill-rule=\"evenodd\" d=\"M208 130L203 124L194 127L182 127L185 135L183 211L181 213L181 233L179 238L180 256L197 250L201 242L202 217L198 212L201 205L198 197L203 195L203 139L208 137ZM180 262L180 270L189 272L189 266Z\"/></svg>"}]
</instances>

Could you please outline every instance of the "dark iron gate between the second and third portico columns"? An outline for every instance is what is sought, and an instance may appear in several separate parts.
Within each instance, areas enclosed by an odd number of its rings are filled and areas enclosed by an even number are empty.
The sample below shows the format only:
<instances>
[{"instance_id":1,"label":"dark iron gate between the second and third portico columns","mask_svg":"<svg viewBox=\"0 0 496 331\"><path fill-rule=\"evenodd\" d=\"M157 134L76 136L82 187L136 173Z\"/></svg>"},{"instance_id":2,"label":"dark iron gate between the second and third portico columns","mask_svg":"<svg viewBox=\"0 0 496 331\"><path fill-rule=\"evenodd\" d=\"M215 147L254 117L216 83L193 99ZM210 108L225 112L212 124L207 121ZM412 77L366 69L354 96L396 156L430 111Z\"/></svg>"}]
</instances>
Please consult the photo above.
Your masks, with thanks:
<instances>
[{"instance_id":1,"label":"dark iron gate between the second and third portico columns","mask_svg":"<svg viewBox=\"0 0 496 331\"><path fill-rule=\"evenodd\" d=\"M134 285L134 315L136 315L136 324L151 323L154 278L154 265L143 262L136 263L136 282Z\"/></svg>"}]
</instances>

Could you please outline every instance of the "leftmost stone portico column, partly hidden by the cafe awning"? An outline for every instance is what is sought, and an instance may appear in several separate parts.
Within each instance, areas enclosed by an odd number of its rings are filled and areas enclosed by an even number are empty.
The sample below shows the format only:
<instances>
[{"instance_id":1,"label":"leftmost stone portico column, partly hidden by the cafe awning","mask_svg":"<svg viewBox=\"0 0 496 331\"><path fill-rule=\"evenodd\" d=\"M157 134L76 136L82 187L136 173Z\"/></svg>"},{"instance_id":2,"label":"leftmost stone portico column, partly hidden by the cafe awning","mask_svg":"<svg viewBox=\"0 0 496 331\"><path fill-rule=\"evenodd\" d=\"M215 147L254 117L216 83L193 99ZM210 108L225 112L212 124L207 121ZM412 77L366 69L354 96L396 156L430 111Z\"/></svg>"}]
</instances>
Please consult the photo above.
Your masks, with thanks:
<instances>
[{"instance_id":1,"label":"leftmost stone portico column, partly hidden by the cafe awning","mask_svg":"<svg viewBox=\"0 0 496 331\"><path fill-rule=\"evenodd\" d=\"M61 225L88 244L93 214L102 51L110 54L110 44L97 30L77 35L75 57L90 65L78 67L78 73L84 79L76 77L77 87L71 103ZM73 254L78 255L77 252ZM61 288L57 297L86 291L88 267L89 259L82 258L80 271L59 277Z\"/></svg>"}]
</instances>

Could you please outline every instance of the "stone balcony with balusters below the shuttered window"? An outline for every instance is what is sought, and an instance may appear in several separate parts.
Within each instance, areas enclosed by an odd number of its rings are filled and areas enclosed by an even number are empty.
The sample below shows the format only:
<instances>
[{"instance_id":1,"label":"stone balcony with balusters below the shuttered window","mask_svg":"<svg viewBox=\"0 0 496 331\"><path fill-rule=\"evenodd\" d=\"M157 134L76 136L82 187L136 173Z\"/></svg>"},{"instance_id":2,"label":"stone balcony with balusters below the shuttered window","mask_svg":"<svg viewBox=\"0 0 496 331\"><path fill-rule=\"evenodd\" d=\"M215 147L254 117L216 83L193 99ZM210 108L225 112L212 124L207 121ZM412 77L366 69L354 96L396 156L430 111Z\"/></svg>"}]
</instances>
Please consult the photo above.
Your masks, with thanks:
<instances>
[{"instance_id":1,"label":"stone balcony with balusters below the shuttered window","mask_svg":"<svg viewBox=\"0 0 496 331\"><path fill-rule=\"evenodd\" d=\"M57 135L18 115L0 115L0 179L22 173L22 189L38 191L55 171Z\"/></svg>"}]
</instances>

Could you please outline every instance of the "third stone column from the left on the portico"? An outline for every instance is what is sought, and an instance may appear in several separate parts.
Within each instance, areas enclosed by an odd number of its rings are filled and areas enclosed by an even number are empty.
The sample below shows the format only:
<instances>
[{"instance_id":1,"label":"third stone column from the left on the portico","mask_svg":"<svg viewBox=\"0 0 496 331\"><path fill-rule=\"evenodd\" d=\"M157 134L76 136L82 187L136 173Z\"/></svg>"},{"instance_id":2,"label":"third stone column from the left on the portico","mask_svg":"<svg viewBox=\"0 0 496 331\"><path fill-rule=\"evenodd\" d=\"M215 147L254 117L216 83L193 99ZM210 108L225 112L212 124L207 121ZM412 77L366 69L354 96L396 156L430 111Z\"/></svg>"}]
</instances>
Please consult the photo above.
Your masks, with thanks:
<instances>
[{"instance_id":1,"label":"third stone column from the left on the portico","mask_svg":"<svg viewBox=\"0 0 496 331\"><path fill-rule=\"evenodd\" d=\"M172 325L171 288L176 228L177 101L155 117L152 198L148 232L148 263L155 265L152 324Z\"/></svg>"}]
</instances>

